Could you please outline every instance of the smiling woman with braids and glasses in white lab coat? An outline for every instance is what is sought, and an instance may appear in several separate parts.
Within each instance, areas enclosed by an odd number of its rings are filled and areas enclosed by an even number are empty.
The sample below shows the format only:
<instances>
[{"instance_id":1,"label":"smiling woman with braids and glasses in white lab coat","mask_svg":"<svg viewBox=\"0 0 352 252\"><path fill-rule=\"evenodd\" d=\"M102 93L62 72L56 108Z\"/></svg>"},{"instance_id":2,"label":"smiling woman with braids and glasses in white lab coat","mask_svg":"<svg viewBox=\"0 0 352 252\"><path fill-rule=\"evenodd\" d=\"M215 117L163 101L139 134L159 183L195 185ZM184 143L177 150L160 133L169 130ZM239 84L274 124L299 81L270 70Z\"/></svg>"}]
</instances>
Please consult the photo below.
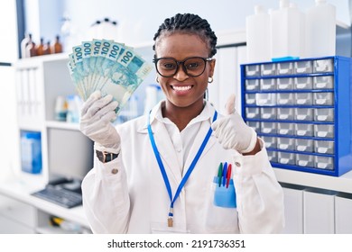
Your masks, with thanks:
<instances>
[{"instance_id":1,"label":"smiling woman with braids and glasses in white lab coat","mask_svg":"<svg viewBox=\"0 0 352 252\"><path fill-rule=\"evenodd\" d=\"M80 129L95 141L82 183L94 233L279 233L283 190L264 142L235 111L204 99L217 36L196 14L176 14L154 36L156 79L166 96L116 128L117 103L92 94Z\"/></svg>"}]
</instances>

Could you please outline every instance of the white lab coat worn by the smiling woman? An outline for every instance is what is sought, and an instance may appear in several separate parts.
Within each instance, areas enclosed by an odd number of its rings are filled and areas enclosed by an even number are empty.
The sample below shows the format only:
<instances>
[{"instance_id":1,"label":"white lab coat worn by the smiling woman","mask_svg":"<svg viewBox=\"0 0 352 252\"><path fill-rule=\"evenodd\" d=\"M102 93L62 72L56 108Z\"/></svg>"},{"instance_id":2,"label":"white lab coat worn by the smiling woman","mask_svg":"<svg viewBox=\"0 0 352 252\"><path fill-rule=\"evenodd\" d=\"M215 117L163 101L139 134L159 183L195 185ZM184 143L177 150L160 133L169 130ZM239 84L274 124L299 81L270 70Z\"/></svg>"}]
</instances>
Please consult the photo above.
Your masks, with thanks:
<instances>
[{"instance_id":1,"label":"white lab coat worn by the smiling woman","mask_svg":"<svg viewBox=\"0 0 352 252\"><path fill-rule=\"evenodd\" d=\"M201 122L183 174L165 125L154 118L160 103L151 112L154 139L172 195L210 127L214 108L206 106L208 120ZM283 190L263 142L255 156L242 156L222 148L211 135L174 204L173 227L169 228L170 198L148 136L147 117L118 125L117 131L121 136L119 156L107 164L95 157L94 168L82 183L83 207L94 233L279 233L283 229ZM219 163L226 161L234 168L236 208L213 203L213 179Z\"/></svg>"}]
</instances>

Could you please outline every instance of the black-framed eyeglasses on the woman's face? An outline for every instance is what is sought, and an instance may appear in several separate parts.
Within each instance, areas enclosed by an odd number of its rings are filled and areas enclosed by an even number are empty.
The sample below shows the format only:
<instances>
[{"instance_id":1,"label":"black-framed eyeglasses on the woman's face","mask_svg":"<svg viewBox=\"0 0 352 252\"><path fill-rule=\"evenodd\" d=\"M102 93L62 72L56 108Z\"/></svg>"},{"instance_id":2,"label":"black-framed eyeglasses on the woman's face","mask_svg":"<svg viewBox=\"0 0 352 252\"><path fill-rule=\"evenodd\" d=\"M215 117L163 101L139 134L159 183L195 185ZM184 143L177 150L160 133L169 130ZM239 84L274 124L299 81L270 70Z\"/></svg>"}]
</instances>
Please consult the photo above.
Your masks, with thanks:
<instances>
[{"instance_id":1,"label":"black-framed eyeglasses on the woman's face","mask_svg":"<svg viewBox=\"0 0 352 252\"><path fill-rule=\"evenodd\" d=\"M164 77L174 76L182 65L183 71L188 76L197 77L204 73L207 61L212 58L190 57L182 61L177 61L175 58L154 58L156 71Z\"/></svg>"}]
</instances>

